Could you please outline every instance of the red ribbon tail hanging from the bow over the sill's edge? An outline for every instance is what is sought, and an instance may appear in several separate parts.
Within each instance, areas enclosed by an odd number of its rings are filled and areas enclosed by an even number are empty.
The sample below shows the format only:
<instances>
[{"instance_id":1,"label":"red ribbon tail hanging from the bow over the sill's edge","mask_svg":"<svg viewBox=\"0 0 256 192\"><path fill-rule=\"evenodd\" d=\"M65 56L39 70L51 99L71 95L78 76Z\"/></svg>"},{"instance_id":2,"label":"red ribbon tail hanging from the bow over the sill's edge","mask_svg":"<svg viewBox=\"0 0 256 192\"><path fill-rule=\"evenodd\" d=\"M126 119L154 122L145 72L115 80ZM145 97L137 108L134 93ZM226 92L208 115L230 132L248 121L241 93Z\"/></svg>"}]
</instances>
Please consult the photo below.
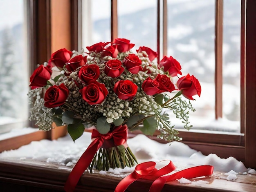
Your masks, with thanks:
<instances>
[{"instance_id":1,"label":"red ribbon tail hanging from the bow over the sill's edge","mask_svg":"<svg viewBox=\"0 0 256 192\"><path fill-rule=\"evenodd\" d=\"M102 144L103 140L101 138L97 138L92 141L89 147L85 150L67 178L64 186L66 192L73 192L75 190L80 177L89 167L95 153L99 150Z\"/></svg>"}]
</instances>

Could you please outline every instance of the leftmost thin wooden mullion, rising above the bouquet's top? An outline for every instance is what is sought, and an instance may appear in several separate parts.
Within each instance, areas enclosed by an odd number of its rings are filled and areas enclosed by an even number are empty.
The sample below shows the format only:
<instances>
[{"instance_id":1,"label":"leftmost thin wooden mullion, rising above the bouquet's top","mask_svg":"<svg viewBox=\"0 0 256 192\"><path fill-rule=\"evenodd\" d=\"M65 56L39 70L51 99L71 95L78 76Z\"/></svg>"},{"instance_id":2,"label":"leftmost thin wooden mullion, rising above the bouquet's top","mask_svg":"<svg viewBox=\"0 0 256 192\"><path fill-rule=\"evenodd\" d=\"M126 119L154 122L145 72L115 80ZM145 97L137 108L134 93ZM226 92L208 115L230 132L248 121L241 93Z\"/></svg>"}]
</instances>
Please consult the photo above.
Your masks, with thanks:
<instances>
[{"instance_id":1,"label":"leftmost thin wooden mullion, rising above the bouquet's top","mask_svg":"<svg viewBox=\"0 0 256 192\"><path fill-rule=\"evenodd\" d=\"M111 0L111 42L118 38L117 0Z\"/></svg>"}]
</instances>

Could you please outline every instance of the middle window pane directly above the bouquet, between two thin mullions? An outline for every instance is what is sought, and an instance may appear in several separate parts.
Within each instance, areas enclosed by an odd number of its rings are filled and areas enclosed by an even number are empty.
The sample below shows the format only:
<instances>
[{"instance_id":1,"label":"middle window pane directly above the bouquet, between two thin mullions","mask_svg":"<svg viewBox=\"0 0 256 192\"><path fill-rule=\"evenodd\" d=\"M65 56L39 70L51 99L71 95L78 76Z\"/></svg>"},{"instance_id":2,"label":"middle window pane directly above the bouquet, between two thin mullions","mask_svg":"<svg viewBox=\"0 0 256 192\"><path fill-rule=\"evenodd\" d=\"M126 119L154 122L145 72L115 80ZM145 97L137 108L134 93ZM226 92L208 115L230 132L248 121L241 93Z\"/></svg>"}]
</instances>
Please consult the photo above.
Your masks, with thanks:
<instances>
[{"instance_id":1,"label":"middle window pane directly above the bouquet, between two thin mullions","mask_svg":"<svg viewBox=\"0 0 256 192\"><path fill-rule=\"evenodd\" d=\"M118 0L118 37L157 51L157 1Z\"/></svg>"}]
</instances>

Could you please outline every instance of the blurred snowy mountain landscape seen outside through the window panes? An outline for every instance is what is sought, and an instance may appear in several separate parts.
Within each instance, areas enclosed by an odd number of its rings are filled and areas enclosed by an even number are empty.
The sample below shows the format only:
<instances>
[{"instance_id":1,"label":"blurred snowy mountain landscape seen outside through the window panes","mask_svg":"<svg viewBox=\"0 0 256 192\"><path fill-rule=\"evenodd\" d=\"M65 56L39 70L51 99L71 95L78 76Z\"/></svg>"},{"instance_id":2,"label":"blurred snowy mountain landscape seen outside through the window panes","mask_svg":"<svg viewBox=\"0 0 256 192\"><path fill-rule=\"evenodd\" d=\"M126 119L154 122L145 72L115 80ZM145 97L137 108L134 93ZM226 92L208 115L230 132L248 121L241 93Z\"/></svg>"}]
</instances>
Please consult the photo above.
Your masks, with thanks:
<instances>
[{"instance_id":1,"label":"blurred snowy mountain landscape seen outside through the window panes","mask_svg":"<svg viewBox=\"0 0 256 192\"><path fill-rule=\"evenodd\" d=\"M102 8L95 7L99 2L102 2ZM143 5L143 1L139 2L133 3L138 5L137 9L129 9L125 1L120 1L119 37L135 43L137 46L135 49L144 45L156 50L156 1L149 0L146 6ZM218 121L214 119L214 2L214 0L168 1L168 56L171 55L180 62L183 75L193 74L201 83L201 97L192 101L196 112L190 114L190 122L194 125L194 129L205 129L205 126L214 124L210 130L239 133L240 1L224 1L224 115ZM107 6L103 6L107 3L108 1L92 1L91 43L110 40L109 12L104 13ZM11 16L9 18L12 19ZM0 126L4 127L7 122L6 116L9 117L8 120L27 118L29 82L24 70L26 69L25 49L22 47L24 25L17 20L13 25L3 25L2 22L0 25L0 67L3 69L0 71ZM85 46L88 45L83 45ZM45 58L46 61L47 59ZM173 124L177 125L177 128L182 126L175 117Z\"/></svg>"}]
</instances>

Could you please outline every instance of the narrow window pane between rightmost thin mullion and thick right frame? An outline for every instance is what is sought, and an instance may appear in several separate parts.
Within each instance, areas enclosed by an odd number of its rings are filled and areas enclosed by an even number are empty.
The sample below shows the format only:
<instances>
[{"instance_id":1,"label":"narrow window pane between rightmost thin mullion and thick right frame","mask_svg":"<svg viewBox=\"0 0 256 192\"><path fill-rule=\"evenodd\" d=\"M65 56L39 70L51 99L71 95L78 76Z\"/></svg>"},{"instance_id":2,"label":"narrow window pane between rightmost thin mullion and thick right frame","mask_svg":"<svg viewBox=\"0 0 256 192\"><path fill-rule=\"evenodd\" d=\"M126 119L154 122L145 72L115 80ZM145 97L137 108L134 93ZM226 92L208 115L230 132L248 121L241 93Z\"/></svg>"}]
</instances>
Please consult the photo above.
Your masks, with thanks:
<instances>
[{"instance_id":1,"label":"narrow window pane between rightmost thin mullion and thick right frame","mask_svg":"<svg viewBox=\"0 0 256 192\"><path fill-rule=\"evenodd\" d=\"M240 0L224 0L223 118L240 123Z\"/></svg>"}]
</instances>

